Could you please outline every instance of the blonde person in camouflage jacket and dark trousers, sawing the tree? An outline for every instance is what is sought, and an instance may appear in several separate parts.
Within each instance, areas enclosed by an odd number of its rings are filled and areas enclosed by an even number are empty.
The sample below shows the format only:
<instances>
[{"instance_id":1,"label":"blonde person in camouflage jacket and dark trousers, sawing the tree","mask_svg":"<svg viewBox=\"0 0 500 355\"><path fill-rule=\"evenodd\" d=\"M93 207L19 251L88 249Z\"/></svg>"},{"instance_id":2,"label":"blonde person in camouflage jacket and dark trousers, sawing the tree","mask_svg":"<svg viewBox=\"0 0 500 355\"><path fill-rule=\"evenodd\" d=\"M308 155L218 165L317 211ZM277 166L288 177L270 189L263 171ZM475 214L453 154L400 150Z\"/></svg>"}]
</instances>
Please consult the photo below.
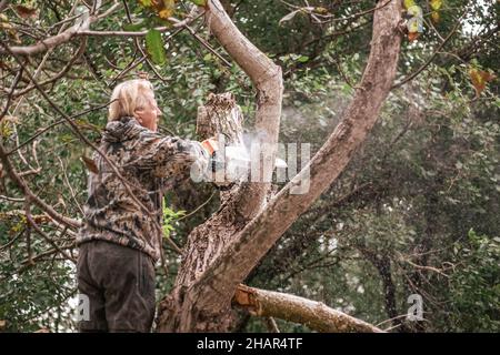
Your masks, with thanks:
<instances>
[{"instance_id":1,"label":"blonde person in camouflage jacket and dark trousers, sawing the tree","mask_svg":"<svg viewBox=\"0 0 500 355\"><path fill-rule=\"evenodd\" d=\"M111 101L100 151L119 174L94 153L77 237L78 288L89 306L89 320L79 326L81 332L150 332L162 192L203 174L217 142L156 133L161 111L147 80L119 84Z\"/></svg>"}]
</instances>

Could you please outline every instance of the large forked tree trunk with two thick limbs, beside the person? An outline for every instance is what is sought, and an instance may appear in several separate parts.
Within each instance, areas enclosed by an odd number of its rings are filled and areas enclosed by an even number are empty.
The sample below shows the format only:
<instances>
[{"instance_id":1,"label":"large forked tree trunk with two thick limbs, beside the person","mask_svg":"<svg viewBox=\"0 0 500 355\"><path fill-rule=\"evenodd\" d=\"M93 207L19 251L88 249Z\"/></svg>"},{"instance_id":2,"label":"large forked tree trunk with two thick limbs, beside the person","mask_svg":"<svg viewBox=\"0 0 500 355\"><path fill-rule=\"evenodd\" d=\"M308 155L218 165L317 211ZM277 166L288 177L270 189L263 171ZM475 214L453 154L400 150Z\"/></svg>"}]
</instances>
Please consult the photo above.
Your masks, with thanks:
<instances>
[{"instance_id":1,"label":"large forked tree trunk with two thick limbs, beside the person","mask_svg":"<svg viewBox=\"0 0 500 355\"><path fill-rule=\"evenodd\" d=\"M380 4L384 4L382 1ZM197 227L189 243L173 291L159 308L160 332L220 332L232 325L231 300L237 286L284 231L339 176L366 140L386 100L399 59L401 2L392 0L373 14L371 51L358 91L344 119L313 156L267 205L269 183L237 186L226 205ZM258 90L256 128L264 140L277 142L281 112L281 70L236 29L219 1L208 7L210 28ZM276 148L266 152L274 159ZM302 182L310 189L293 194ZM203 260L192 268L193 260Z\"/></svg>"}]
</instances>

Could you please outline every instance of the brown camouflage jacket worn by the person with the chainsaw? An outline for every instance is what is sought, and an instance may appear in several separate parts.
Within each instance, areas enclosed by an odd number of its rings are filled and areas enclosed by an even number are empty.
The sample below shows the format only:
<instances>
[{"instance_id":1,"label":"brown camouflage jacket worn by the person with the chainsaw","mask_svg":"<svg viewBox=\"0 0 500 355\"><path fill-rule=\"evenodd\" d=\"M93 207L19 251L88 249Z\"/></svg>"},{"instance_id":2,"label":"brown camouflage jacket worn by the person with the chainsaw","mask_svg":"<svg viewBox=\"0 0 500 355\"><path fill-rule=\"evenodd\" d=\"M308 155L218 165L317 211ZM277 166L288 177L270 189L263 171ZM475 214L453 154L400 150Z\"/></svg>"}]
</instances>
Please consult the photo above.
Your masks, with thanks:
<instances>
[{"instance_id":1,"label":"brown camouflage jacket worn by the person with the chainsaw","mask_svg":"<svg viewBox=\"0 0 500 355\"><path fill-rule=\"evenodd\" d=\"M104 240L140 250L157 261L162 237L162 194L191 174L204 174L208 152L196 141L154 133L133 118L109 122L100 150L122 178L99 153L93 154L97 171L92 169L89 176L84 223L77 244Z\"/></svg>"}]
</instances>

